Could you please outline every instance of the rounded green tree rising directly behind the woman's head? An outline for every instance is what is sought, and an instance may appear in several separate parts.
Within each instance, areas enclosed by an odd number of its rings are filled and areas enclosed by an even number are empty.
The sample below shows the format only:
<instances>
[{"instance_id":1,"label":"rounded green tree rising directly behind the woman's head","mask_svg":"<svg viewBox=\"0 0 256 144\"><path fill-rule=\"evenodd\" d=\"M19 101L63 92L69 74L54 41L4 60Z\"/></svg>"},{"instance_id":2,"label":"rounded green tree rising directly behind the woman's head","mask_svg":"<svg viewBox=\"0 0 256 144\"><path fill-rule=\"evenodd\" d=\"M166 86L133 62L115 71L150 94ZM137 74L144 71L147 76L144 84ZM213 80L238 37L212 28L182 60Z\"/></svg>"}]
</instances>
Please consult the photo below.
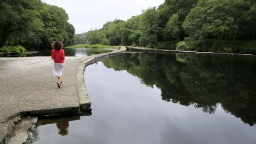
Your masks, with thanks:
<instances>
[{"instance_id":1,"label":"rounded green tree rising directly behind the woman's head","mask_svg":"<svg viewBox=\"0 0 256 144\"><path fill-rule=\"evenodd\" d=\"M50 47L53 41L62 41L64 45L72 45L75 28L67 22L68 14L58 6L43 4L41 17L44 22L42 30L37 31L41 35L41 47Z\"/></svg>"}]
</instances>

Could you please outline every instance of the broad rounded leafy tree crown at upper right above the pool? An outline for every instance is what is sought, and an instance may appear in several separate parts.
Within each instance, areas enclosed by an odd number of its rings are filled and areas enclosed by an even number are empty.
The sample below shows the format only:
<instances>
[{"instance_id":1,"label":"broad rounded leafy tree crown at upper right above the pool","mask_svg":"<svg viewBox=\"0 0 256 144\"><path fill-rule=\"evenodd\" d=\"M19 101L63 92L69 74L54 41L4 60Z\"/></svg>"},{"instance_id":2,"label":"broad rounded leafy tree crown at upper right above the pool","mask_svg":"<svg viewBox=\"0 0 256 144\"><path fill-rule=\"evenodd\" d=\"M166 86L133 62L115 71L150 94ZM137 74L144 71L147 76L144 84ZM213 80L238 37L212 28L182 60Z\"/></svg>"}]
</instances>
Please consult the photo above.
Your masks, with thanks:
<instances>
[{"instance_id":1,"label":"broad rounded leafy tree crown at upper right above the pool","mask_svg":"<svg viewBox=\"0 0 256 144\"><path fill-rule=\"evenodd\" d=\"M183 28L191 40L209 37L219 38L231 29L234 18L229 15L228 6L231 1L199 1L197 6L187 15Z\"/></svg>"}]
</instances>

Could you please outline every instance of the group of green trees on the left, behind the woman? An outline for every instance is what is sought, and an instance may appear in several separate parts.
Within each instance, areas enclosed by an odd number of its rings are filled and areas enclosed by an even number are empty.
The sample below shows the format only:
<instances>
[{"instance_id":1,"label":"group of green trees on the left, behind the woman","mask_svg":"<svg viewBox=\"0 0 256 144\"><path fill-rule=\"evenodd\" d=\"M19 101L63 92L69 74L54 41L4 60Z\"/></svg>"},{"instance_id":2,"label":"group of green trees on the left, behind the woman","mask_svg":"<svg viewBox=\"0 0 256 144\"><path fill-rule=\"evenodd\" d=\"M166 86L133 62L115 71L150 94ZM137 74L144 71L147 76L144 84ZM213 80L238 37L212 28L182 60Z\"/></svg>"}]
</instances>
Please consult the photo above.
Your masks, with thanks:
<instances>
[{"instance_id":1,"label":"group of green trees on the left, behind the woman","mask_svg":"<svg viewBox=\"0 0 256 144\"><path fill-rule=\"evenodd\" d=\"M26 49L45 49L56 40L73 45L74 34L68 14L58 6L39 0L0 2L0 47L21 45Z\"/></svg>"}]
</instances>

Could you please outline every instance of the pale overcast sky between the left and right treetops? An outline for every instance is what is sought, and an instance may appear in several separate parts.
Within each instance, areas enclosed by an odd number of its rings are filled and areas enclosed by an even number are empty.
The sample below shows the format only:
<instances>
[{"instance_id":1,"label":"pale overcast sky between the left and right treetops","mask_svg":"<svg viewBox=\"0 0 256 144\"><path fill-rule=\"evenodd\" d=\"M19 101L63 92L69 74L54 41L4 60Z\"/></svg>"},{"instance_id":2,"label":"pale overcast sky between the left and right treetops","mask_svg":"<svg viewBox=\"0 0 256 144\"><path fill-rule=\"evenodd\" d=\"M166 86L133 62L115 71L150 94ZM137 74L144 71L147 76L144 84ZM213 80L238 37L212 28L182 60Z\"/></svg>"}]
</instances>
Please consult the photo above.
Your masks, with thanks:
<instances>
[{"instance_id":1,"label":"pale overcast sky between the left and right treetops","mask_svg":"<svg viewBox=\"0 0 256 144\"><path fill-rule=\"evenodd\" d=\"M142 10L159 6L164 0L43 0L50 5L62 7L75 26L76 34L100 29L107 21L127 20Z\"/></svg>"}]
</instances>

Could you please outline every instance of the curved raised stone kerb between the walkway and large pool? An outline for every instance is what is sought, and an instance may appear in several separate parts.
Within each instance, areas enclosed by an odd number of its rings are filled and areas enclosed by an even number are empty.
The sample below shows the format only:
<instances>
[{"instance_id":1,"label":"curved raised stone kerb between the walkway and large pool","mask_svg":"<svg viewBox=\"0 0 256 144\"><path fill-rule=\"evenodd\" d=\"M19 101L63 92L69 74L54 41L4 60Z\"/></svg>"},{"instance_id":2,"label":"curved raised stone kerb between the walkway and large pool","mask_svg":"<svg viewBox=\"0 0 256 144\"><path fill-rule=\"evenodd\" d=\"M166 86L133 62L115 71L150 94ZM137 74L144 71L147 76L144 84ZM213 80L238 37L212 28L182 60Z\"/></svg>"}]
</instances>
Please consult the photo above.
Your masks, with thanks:
<instances>
[{"instance_id":1,"label":"curved raised stone kerb between the walkway and large pool","mask_svg":"<svg viewBox=\"0 0 256 144\"><path fill-rule=\"evenodd\" d=\"M78 99L79 99L79 105L80 109L89 109L91 107L91 100L90 97L87 93L86 85L84 83L84 70L87 66L100 61L102 59L124 53L126 52L126 48L124 46L121 46L121 49L108 52L108 53L102 53L102 54L96 54L96 55L91 55L89 57L86 57L83 59L83 62L78 68L77 72L77 91L78 91ZM82 78L83 77L83 78Z\"/></svg>"}]
</instances>

